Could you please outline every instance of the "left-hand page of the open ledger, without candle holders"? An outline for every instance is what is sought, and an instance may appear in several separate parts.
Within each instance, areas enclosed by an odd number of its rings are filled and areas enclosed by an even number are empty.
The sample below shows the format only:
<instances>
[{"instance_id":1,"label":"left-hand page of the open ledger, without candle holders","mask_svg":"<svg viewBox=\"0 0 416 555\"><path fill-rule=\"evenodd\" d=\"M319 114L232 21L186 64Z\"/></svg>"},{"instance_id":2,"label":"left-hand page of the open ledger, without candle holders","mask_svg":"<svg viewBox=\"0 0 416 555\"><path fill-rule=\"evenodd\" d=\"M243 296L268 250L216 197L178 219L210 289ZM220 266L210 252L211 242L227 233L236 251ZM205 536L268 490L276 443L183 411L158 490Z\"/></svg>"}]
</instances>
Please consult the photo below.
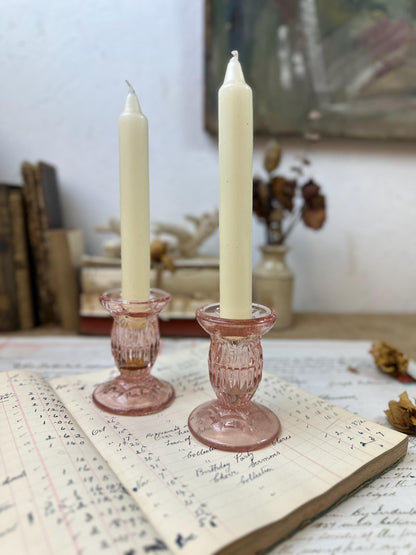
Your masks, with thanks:
<instances>
[{"instance_id":1,"label":"left-hand page of the open ledger, without candle holders","mask_svg":"<svg viewBox=\"0 0 416 555\"><path fill-rule=\"evenodd\" d=\"M168 552L41 376L0 392L0 553Z\"/></svg>"}]
</instances>

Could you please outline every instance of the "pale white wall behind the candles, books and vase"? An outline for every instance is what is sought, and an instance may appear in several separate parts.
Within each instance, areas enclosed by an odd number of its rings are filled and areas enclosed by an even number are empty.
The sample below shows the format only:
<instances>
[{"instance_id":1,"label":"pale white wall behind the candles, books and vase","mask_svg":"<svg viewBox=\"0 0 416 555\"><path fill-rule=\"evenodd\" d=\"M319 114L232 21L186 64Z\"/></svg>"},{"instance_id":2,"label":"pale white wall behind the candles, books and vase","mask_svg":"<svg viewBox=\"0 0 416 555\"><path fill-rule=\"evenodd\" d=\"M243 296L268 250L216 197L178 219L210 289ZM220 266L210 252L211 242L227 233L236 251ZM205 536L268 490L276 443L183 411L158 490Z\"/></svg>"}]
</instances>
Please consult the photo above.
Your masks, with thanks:
<instances>
[{"instance_id":1,"label":"pale white wall behind the candles, books and vase","mask_svg":"<svg viewBox=\"0 0 416 555\"><path fill-rule=\"evenodd\" d=\"M152 221L218 205L216 140L203 125L203 0L16 0L0 18L0 181L23 160L55 165L68 227L101 251L97 223L119 214L117 119L129 79L149 120ZM221 83L218 84L220 86ZM294 308L416 310L413 143L280 139L282 171L307 153L327 222L288 245ZM265 141L256 140L254 173ZM264 242L253 222L253 262ZM218 235L204 248L218 252Z\"/></svg>"}]
</instances>

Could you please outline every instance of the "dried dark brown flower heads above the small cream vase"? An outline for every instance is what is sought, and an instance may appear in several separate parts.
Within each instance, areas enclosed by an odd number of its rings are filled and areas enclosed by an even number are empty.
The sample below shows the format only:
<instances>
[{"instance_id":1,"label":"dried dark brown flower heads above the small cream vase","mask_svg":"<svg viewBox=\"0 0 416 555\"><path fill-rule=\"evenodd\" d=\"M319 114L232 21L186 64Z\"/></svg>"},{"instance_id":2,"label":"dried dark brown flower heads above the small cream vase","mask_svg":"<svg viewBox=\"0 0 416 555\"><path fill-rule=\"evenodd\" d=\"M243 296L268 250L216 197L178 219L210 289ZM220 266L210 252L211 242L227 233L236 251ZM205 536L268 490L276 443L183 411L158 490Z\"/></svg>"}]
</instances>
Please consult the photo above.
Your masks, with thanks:
<instances>
[{"instance_id":1,"label":"dried dark brown flower heads above the small cream vase","mask_svg":"<svg viewBox=\"0 0 416 555\"><path fill-rule=\"evenodd\" d=\"M293 177L279 175L282 156L280 145L272 141L266 146L263 165L267 178L253 179L253 212L266 224L267 244L282 245L298 221L311 229L325 222L325 197L313 179L302 183L310 161L299 157L291 167Z\"/></svg>"}]
</instances>

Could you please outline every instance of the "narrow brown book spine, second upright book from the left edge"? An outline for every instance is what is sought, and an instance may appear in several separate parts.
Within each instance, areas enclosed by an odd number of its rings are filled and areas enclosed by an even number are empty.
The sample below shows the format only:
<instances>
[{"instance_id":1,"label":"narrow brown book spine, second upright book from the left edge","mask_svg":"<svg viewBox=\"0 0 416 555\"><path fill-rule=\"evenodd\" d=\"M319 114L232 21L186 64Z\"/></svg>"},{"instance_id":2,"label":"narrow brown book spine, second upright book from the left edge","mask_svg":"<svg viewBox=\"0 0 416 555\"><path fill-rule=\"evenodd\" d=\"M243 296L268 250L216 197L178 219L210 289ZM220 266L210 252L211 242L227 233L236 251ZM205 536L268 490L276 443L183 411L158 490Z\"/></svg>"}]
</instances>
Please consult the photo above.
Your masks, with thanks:
<instances>
[{"instance_id":1,"label":"narrow brown book spine, second upright book from the left edge","mask_svg":"<svg viewBox=\"0 0 416 555\"><path fill-rule=\"evenodd\" d=\"M12 228L12 249L16 284L19 327L31 329L35 325L31 268L27 245L26 219L21 189L9 191L9 212Z\"/></svg>"}]
</instances>

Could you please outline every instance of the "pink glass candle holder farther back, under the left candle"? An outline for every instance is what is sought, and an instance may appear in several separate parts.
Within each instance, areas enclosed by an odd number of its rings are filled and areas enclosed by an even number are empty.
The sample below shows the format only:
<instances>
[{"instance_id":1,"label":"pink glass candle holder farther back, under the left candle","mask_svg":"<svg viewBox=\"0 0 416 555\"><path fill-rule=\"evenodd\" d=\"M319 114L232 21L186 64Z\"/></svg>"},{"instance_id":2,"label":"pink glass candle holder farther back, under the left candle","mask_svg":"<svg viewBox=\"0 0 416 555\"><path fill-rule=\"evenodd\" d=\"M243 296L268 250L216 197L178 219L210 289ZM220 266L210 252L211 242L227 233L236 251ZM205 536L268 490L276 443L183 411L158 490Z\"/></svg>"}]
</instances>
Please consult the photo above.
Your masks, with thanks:
<instances>
[{"instance_id":1,"label":"pink glass candle holder farther back, under the left candle","mask_svg":"<svg viewBox=\"0 0 416 555\"><path fill-rule=\"evenodd\" d=\"M173 401L173 387L150 375L159 352L158 314L170 298L161 289L151 289L150 299L143 302L123 300L119 289L100 296L114 319L111 351L120 372L95 388L92 397L100 409L137 416L159 412Z\"/></svg>"}]
</instances>

